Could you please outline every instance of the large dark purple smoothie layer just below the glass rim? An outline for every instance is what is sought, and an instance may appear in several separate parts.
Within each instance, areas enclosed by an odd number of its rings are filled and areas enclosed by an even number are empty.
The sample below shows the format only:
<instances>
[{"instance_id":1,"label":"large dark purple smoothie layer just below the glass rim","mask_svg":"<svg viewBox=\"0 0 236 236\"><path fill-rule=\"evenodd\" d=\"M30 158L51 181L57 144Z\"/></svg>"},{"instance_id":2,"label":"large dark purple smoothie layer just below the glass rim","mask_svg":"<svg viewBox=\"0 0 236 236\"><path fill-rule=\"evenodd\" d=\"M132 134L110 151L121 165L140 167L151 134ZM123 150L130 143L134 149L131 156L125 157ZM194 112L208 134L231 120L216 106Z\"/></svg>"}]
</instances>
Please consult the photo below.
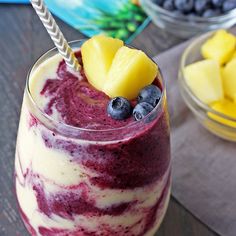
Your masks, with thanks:
<instances>
[{"instance_id":1,"label":"large dark purple smoothie layer just below the glass rim","mask_svg":"<svg viewBox=\"0 0 236 236\"><path fill-rule=\"evenodd\" d=\"M42 132L42 137L48 148L67 152L72 162L96 172L98 175L90 179L92 184L129 189L158 180L170 162L166 112L152 123L141 125L142 129L132 138L106 145L79 145L50 131Z\"/></svg>"}]
</instances>

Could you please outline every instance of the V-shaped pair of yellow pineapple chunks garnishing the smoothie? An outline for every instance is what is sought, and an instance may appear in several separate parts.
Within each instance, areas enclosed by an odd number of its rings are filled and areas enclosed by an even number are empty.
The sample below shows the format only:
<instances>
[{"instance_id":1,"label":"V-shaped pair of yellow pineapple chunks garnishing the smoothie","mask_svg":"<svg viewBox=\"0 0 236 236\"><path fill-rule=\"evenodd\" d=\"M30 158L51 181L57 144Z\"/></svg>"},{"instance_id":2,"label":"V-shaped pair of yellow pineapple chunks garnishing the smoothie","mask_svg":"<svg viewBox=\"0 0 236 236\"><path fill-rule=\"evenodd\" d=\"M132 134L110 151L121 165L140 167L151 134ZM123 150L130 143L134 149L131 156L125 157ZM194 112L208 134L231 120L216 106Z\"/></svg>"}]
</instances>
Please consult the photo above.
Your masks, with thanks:
<instances>
[{"instance_id":1,"label":"V-shaped pair of yellow pineapple chunks garnishing the smoothie","mask_svg":"<svg viewBox=\"0 0 236 236\"><path fill-rule=\"evenodd\" d=\"M88 82L109 97L137 97L157 76L157 65L142 51L123 46L123 41L94 36L81 47Z\"/></svg>"}]
</instances>

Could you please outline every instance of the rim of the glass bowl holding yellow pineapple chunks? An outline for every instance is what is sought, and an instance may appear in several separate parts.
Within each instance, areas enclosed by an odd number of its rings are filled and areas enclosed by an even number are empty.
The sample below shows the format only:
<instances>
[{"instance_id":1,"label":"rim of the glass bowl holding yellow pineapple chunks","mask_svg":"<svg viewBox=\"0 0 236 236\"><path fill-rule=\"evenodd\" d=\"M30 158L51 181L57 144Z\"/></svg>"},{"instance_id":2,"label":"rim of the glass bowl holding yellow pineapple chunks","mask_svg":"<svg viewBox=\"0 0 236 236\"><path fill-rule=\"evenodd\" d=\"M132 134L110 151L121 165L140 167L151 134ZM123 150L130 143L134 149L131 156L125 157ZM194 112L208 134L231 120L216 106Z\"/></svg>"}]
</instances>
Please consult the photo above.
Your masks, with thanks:
<instances>
[{"instance_id":1,"label":"rim of the glass bowl holding yellow pineapple chunks","mask_svg":"<svg viewBox=\"0 0 236 236\"><path fill-rule=\"evenodd\" d=\"M231 122L236 122L236 119L233 117L230 117L228 115L225 115L219 111L216 111L215 109L211 108L209 105L207 105L206 103L202 102L191 90L191 88L188 86L188 84L186 83L185 77L184 77L184 67L186 64L186 59L189 55L189 53L191 52L191 50L193 49L193 47L201 40L204 39L208 39L211 35L213 35L217 30L208 32L206 34L201 35L200 37L195 38L188 46L187 48L184 50L183 55L181 56L181 60L180 60L180 73L179 73L179 80L181 81L183 88L185 89L185 91L188 93L188 95L190 96L190 98L203 110L205 110L206 112L212 113L222 119L231 121ZM222 124L222 123L221 123ZM228 125L223 124L225 126L228 127ZM233 127L232 127L233 128Z\"/></svg>"}]
</instances>

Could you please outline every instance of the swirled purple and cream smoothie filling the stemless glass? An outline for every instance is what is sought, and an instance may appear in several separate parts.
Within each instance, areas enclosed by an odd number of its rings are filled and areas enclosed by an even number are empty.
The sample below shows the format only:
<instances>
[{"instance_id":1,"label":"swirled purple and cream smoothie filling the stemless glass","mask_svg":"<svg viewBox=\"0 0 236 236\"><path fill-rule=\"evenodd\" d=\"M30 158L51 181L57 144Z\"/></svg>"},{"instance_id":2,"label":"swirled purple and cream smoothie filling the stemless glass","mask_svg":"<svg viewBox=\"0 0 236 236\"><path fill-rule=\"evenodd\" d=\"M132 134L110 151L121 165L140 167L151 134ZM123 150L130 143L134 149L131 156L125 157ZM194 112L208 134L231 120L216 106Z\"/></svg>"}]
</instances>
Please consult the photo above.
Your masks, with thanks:
<instances>
[{"instance_id":1,"label":"swirled purple and cream smoothie filling the stemless glass","mask_svg":"<svg viewBox=\"0 0 236 236\"><path fill-rule=\"evenodd\" d=\"M54 54L54 55L52 55ZM144 119L107 114L111 98L61 56L32 69L17 138L15 183L31 235L154 235L170 195L169 121L162 98ZM135 106L136 101L130 101Z\"/></svg>"}]
</instances>

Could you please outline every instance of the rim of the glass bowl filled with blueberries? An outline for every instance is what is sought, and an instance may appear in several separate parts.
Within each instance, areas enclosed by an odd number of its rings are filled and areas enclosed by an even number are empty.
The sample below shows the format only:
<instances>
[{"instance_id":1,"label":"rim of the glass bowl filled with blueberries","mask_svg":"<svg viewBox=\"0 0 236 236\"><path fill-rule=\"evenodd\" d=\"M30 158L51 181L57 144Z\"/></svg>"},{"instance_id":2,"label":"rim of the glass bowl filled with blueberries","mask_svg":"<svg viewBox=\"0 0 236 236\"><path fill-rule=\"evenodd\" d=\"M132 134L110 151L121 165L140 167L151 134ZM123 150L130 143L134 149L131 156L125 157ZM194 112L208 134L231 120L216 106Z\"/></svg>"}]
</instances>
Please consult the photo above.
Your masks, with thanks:
<instances>
[{"instance_id":1,"label":"rim of the glass bowl filled with blueberries","mask_svg":"<svg viewBox=\"0 0 236 236\"><path fill-rule=\"evenodd\" d=\"M157 4L154 4L152 0L141 0L141 3L144 4L144 5L148 5L149 7L153 8L154 11L158 11L160 12L161 14L164 14L166 16L169 16L169 17L173 17L175 19L179 19L179 20L182 20L182 21L186 21L188 18L187 15L182 15L182 16L177 16L175 14L173 14L171 11L168 11L160 6L158 6ZM214 16L214 17L209 17L209 18L203 18L201 16L193 16L191 19L192 20L196 20L196 22L193 21L193 23L206 23L206 22L216 22L216 21L219 21L219 20L228 20L228 19L231 19L236 17L236 9L233 9L225 14L222 14L222 15L219 15L219 16Z\"/></svg>"}]
</instances>

